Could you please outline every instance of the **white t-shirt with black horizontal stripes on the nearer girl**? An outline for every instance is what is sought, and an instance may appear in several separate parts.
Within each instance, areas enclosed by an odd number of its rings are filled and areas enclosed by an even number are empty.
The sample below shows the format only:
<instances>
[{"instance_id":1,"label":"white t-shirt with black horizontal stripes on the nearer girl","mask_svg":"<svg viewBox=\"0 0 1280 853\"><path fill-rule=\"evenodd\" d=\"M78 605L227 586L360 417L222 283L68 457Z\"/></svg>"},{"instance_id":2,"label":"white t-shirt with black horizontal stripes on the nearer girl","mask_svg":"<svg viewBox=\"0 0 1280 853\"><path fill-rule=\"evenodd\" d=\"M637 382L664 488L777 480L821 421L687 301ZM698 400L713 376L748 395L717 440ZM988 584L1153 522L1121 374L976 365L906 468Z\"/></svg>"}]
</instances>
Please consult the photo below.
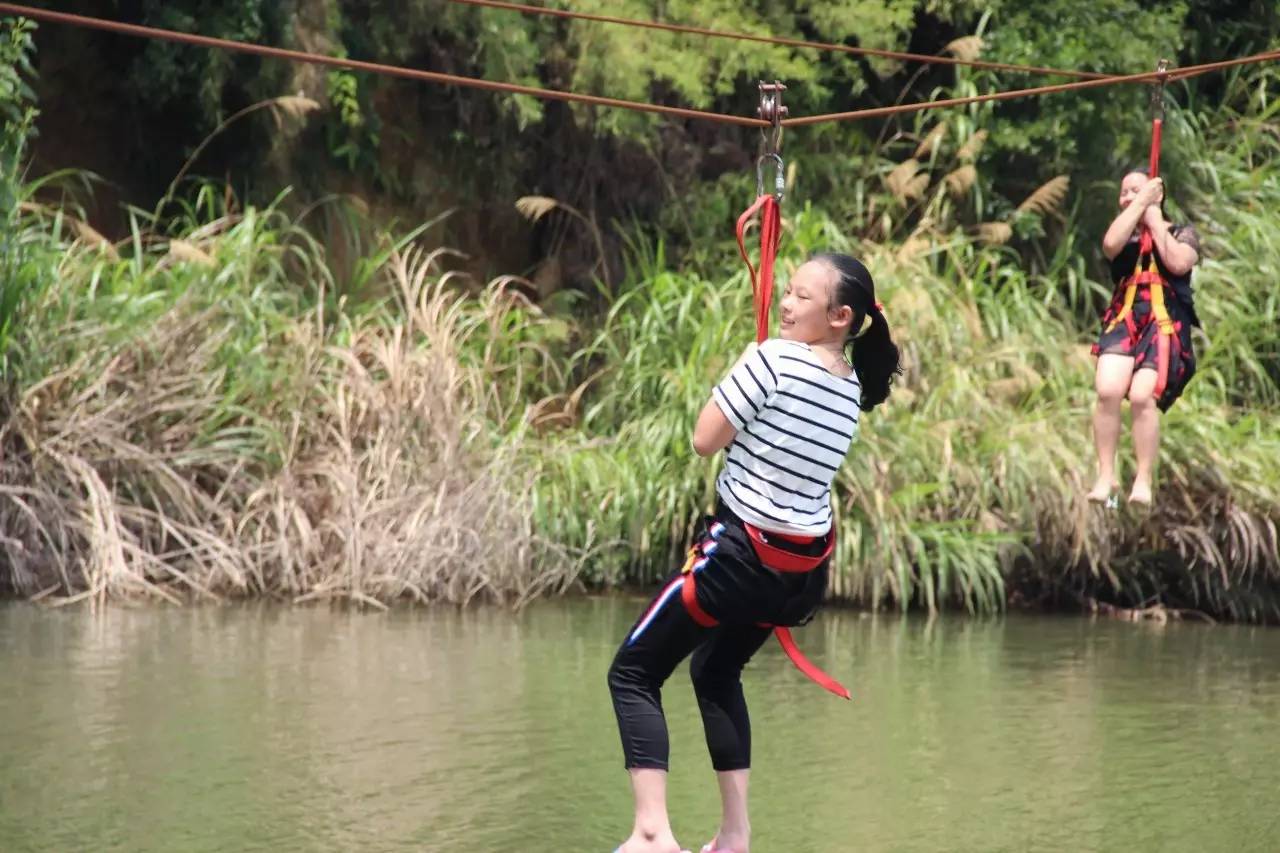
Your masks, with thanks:
<instances>
[{"instance_id":1,"label":"white t-shirt with black horizontal stripes on the nearer girl","mask_svg":"<svg viewBox=\"0 0 1280 853\"><path fill-rule=\"evenodd\" d=\"M716 386L737 435L716 480L744 521L822 535L831 529L831 482L858 433L858 377L829 373L808 345L773 338Z\"/></svg>"}]
</instances>

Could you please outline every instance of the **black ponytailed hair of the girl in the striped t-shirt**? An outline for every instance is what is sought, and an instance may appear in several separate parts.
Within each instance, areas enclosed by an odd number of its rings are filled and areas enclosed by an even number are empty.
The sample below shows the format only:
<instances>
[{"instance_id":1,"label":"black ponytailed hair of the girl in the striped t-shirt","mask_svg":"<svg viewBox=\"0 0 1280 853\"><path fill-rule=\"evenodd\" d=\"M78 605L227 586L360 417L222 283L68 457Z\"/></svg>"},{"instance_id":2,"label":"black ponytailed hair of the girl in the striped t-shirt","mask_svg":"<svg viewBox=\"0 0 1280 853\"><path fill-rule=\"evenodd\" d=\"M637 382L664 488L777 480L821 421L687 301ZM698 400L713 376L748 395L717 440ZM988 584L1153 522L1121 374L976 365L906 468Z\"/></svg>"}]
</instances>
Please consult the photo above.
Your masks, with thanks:
<instances>
[{"instance_id":1,"label":"black ponytailed hair of the girl in the striped t-shirt","mask_svg":"<svg viewBox=\"0 0 1280 853\"><path fill-rule=\"evenodd\" d=\"M847 305L854 313L845 338L845 357L854 365L858 382L863 386L863 411L870 411L888 398L893 377L902 373L897 345L888 333L888 320L876 301L876 282L856 257L838 252L818 252L810 260L822 261L836 272L836 284L831 288L828 309ZM870 318L870 325L859 329Z\"/></svg>"}]
</instances>

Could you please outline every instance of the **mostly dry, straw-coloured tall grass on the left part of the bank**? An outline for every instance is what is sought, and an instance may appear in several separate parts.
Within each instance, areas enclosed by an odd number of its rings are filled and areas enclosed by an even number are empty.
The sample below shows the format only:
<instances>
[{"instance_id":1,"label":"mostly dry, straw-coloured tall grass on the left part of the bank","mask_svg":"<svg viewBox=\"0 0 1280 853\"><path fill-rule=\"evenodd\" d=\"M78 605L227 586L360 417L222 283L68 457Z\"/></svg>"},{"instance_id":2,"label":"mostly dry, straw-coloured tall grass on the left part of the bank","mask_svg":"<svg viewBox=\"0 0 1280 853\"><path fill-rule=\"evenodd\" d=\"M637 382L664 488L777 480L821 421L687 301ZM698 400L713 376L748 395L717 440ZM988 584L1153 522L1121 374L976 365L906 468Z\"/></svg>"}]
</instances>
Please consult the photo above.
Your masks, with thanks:
<instances>
[{"instance_id":1,"label":"mostly dry, straw-coloured tall grass on the left part of the bank","mask_svg":"<svg viewBox=\"0 0 1280 853\"><path fill-rule=\"evenodd\" d=\"M143 594L526 601L573 552L536 532L492 373L460 348L512 311L439 254L390 246L385 297L326 298L321 247L275 207L116 255L32 209L0 425L0 578L56 602ZM536 320L535 320L536 321ZM541 570L543 566L550 566Z\"/></svg>"}]
</instances>

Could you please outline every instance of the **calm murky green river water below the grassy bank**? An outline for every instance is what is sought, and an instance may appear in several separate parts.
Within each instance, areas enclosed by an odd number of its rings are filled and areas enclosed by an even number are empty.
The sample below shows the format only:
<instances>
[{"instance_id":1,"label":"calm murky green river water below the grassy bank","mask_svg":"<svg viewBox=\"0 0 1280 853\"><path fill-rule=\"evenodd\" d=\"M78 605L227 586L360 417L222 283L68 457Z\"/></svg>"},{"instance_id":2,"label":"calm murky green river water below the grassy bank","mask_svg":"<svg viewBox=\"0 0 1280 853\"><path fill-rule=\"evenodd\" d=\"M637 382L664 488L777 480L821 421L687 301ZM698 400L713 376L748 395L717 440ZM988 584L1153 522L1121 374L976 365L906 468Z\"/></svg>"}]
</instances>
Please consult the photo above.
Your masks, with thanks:
<instances>
[{"instance_id":1,"label":"calm murky green river water below the grassy bank","mask_svg":"<svg viewBox=\"0 0 1280 853\"><path fill-rule=\"evenodd\" d=\"M0 850L612 850L643 599L0 605ZM1280 850L1280 631L824 611L748 667L753 850ZM682 666L672 821L718 800Z\"/></svg>"}]
</instances>

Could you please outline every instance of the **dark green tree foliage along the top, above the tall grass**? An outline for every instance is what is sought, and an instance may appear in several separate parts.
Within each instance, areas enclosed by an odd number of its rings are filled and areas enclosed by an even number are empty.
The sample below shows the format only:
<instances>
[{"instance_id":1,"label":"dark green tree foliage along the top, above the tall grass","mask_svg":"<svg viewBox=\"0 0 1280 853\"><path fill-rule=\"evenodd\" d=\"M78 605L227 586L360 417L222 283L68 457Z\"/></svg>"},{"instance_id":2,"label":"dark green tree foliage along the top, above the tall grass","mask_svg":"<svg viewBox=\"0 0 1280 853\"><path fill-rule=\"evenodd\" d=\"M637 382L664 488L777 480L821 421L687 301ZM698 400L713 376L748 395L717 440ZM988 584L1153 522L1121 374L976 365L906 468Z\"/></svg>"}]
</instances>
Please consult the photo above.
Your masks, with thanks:
<instances>
[{"instance_id":1,"label":"dark green tree foliage along the top, above the tall grass","mask_svg":"<svg viewBox=\"0 0 1280 853\"><path fill-rule=\"evenodd\" d=\"M1260 0L1233 0L1225 8L1207 0L1098 0L1083 5L1014 0L553 0L553 5L923 53L943 53L952 38L979 35L986 59L1107 73L1147 70L1162 56L1175 64L1220 59L1262 49L1280 35L1275 4ZM931 69L841 53L635 31L444 0L237 0L218 4L212 12L198 0L147 0L138 19L488 79L748 115L755 109L759 78L788 85L792 115L1051 82L1029 74ZM288 91L284 82L296 70L282 63L163 42L147 44L129 67L131 92L142 113L152 122L182 127L179 137L189 134L188 145L202 138L227 111ZM1219 86L1220 78L1210 77L1170 87L1170 136L1178 133L1180 109L1215 99ZM325 88L334 109L320 119L324 147L374 190L402 202L429 207L433 200L447 199L439 202L443 207L463 197L480 207L506 205L529 192L568 192L563 201L600 222L660 218L660 233L672 254L691 251L701 263L717 256L708 251L705 236L723 228L732 215L727 207L742 201L735 193L730 204L722 193L740 183L750 191L750 178L740 182L736 175L754 152L754 132L549 105L527 96L451 92L344 72L329 74ZM1147 104L1147 87L1106 87L797 129L787 134L785 147L804 181L804 195L792 197L818 201L841 222L855 223L861 234L869 233L870 220L879 220L881 238L910 234L923 222L920 216L931 213L929 205L872 210L872 191L932 127L950 126L938 149L942 155L948 150L954 155L966 136L983 128L989 138L974 160L977 187L955 213L969 225L1007 222L1021 250L1042 233L1061 234L1044 218L1015 213L1020 200L1055 175L1071 178L1073 195L1065 207L1075 207L1085 228L1103 224L1111 199L1093 188L1146 159ZM243 136L248 129L237 132ZM726 156L735 149L745 156ZM239 154L232 154L244 150L243 145L228 146L223 156L232 159L230 165L252 172L252 158L237 160ZM612 186L618 163L639 156L664 170L664 179L639 191ZM300 156L296 168L312 174L314 161ZM892 165L883 170L887 163ZM940 165L931 155L929 169ZM206 168L223 172L216 155ZM1171 181L1185 179L1181 169L1176 156L1166 158ZM567 183L572 190L563 190L564 178L572 178ZM689 192L690 187L698 191ZM269 199L276 190L273 184L262 195ZM705 206L701 200L708 200ZM1028 259L1038 263L1034 251Z\"/></svg>"}]
</instances>

